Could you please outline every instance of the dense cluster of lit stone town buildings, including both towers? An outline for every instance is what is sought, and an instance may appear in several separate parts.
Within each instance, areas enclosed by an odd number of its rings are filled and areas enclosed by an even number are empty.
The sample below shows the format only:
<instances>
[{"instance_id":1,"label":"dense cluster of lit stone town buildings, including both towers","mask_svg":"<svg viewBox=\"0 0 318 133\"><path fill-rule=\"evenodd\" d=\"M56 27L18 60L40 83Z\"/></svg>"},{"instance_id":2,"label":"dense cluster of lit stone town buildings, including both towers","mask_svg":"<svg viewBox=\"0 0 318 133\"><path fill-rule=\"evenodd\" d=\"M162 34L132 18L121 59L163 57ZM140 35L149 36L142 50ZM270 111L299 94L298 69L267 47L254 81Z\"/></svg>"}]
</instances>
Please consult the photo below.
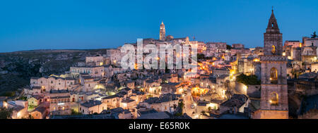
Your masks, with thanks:
<instances>
[{"instance_id":1,"label":"dense cluster of lit stone town buildings, including both towers","mask_svg":"<svg viewBox=\"0 0 318 133\"><path fill-rule=\"evenodd\" d=\"M288 118L288 92L318 93L318 39L303 37L302 42L285 41L283 46L273 12L264 47L204 43L165 33L161 23L160 39L143 39L143 46L197 46L196 71L124 70L119 47L108 49L105 56L86 57L85 64L71 67L64 75L32 77L30 87L24 89L27 101L1 105L13 108L12 118ZM253 82L237 80L254 75Z\"/></svg>"}]
</instances>

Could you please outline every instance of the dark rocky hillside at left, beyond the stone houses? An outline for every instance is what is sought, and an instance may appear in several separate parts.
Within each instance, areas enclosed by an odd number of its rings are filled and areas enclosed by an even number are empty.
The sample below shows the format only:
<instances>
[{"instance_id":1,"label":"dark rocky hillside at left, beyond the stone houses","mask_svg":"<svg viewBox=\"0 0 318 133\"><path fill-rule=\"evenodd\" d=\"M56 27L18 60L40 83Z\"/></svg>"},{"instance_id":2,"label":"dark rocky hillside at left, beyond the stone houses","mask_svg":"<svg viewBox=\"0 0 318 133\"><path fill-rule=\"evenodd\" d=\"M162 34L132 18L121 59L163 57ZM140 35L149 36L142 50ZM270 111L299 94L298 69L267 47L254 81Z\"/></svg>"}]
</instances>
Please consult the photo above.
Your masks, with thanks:
<instances>
[{"instance_id":1,"label":"dark rocky hillside at left, beyond the stone houses","mask_svg":"<svg viewBox=\"0 0 318 133\"><path fill-rule=\"evenodd\" d=\"M104 55L107 49L35 50L0 53L0 96L13 96L30 84L30 77L59 75L86 56Z\"/></svg>"}]
</instances>

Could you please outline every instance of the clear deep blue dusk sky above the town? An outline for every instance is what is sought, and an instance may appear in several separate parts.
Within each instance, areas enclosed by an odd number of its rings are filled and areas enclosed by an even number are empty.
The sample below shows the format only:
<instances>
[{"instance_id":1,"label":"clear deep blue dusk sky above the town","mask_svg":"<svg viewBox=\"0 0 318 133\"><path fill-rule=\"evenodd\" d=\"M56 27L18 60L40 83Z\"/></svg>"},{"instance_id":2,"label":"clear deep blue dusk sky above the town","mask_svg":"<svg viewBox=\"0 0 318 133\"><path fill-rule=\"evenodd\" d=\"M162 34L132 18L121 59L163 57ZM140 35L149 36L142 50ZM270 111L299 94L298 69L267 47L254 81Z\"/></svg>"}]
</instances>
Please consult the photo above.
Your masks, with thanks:
<instances>
[{"instance_id":1,"label":"clear deep blue dusk sky above the town","mask_svg":"<svg viewBox=\"0 0 318 133\"><path fill-rule=\"evenodd\" d=\"M317 0L0 1L0 52L106 49L166 35L263 46L271 7L283 40L318 32Z\"/></svg>"}]
</instances>

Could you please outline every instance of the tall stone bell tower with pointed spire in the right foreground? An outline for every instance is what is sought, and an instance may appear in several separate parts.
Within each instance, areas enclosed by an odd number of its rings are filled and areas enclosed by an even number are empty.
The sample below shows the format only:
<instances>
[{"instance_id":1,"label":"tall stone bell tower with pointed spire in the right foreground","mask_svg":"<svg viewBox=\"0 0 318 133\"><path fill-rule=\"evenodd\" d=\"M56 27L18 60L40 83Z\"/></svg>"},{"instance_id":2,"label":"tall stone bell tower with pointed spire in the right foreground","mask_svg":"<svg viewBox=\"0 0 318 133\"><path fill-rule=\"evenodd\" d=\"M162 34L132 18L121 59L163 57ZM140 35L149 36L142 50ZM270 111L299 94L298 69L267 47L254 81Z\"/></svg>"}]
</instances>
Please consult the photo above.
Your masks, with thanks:
<instances>
[{"instance_id":1,"label":"tall stone bell tower with pointed spire in the right foreground","mask_svg":"<svg viewBox=\"0 0 318 133\"><path fill-rule=\"evenodd\" d=\"M264 56L261 61L261 107L255 118L288 119L288 91L283 39L271 11L271 18L264 33Z\"/></svg>"}]
</instances>

